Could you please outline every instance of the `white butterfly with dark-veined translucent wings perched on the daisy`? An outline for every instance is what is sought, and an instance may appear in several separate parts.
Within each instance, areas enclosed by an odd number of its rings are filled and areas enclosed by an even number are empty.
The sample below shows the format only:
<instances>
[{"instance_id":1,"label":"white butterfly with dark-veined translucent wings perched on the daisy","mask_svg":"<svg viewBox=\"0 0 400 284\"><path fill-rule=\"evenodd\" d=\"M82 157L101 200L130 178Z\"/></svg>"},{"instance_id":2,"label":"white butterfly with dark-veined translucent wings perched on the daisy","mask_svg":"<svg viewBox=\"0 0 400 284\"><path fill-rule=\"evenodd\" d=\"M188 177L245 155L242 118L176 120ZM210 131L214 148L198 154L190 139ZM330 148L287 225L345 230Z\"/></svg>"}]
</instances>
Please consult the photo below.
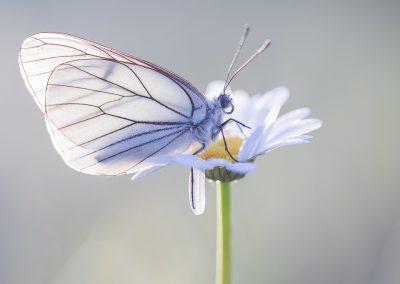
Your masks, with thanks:
<instances>
[{"instance_id":1,"label":"white butterfly with dark-veined translucent wings perched on the daisy","mask_svg":"<svg viewBox=\"0 0 400 284\"><path fill-rule=\"evenodd\" d=\"M247 33L248 28L228 77ZM153 167L150 157L196 145L201 152L234 109L226 87L215 99L207 98L163 67L68 34L27 38L19 66L57 152L87 174L131 174ZM191 181L193 194L204 176Z\"/></svg>"}]
</instances>

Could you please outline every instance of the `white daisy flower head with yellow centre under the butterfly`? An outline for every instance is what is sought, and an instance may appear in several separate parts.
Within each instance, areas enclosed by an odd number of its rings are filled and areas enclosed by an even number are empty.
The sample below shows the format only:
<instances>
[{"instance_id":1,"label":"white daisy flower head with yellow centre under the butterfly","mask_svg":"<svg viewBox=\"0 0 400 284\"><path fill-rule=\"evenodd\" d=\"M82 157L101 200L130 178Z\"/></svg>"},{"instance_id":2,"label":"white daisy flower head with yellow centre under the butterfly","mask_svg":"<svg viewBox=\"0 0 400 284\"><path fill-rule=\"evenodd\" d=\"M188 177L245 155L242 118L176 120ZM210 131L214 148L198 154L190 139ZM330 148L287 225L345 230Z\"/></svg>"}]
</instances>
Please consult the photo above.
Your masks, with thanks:
<instances>
[{"instance_id":1,"label":"white daisy flower head with yellow centre under the butterfly","mask_svg":"<svg viewBox=\"0 0 400 284\"><path fill-rule=\"evenodd\" d=\"M211 82L206 96L218 96L223 87L223 81ZM235 105L235 111L229 117L231 123L205 151L193 155L196 149L190 149L183 154L152 158L155 166L137 173L132 179L170 164L190 168L189 202L193 212L200 215L205 208L205 178L220 182L243 178L256 170L254 161L258 156L281 147L309 143L312 136L307 133L321 127L319 119L306 118L310 114L308 108L296 109L278 117L289 97L286 87L255 96L230 89L227 93L231 94Z\"/></svg>"}]
</instances>

